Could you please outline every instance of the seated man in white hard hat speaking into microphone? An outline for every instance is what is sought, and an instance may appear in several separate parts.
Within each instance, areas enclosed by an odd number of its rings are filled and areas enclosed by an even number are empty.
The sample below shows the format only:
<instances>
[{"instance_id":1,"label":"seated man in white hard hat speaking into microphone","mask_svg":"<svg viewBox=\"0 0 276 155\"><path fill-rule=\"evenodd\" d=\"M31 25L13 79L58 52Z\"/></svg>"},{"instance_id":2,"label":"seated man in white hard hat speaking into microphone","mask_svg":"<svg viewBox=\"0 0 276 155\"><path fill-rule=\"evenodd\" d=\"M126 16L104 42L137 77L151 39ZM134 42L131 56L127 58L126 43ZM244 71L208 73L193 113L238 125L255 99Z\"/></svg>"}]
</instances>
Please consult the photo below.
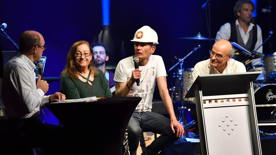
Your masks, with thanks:
<instances>
[{"instance_id":1,"label":"seated man in white hard hat speaking into microphone","mask_svg":"<svg viewBox=\"0 0 276 155\"><path fill-rule=\"evenodd\" d=\"M162 148L174 143L184 133L183 126L177 121L172 100L167 89L166 69L161 56L152 55L158 44L157 33L149 26L143 26L134 34L134 56L121 60L116 68L115 95L139 96L142 100L129 121L127 132L130 154L135 155L142 131L161 134L142 154L158 154ZM133 58L139 58L139 69L135 69ZM136 80L140 80L137 86ZM157 81L160 96L167 108L170 120L151 112L152 98Z\"/></svg>"}]
</instances>

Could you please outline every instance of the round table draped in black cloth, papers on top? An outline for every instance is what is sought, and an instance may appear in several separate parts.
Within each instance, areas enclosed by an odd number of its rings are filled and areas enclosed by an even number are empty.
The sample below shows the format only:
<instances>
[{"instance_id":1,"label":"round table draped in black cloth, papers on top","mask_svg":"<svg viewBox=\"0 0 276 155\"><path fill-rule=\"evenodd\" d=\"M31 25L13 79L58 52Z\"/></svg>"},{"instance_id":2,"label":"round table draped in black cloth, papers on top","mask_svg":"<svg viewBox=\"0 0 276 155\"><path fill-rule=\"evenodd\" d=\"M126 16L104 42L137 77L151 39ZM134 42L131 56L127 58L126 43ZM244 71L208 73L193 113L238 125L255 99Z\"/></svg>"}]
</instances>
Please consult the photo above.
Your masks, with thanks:
<instances>
[{"instance_id":1,"label":"round table draped in black cloth, papers on top","mask_svg":"<svg viewBox=\"0 0 276 155\"><path fill-rule=\"evenodd\" d=\"M121 155L124 133L140 97L88 103L46 103L69 136L72 154Z\"/></svg>"}]
</instances>

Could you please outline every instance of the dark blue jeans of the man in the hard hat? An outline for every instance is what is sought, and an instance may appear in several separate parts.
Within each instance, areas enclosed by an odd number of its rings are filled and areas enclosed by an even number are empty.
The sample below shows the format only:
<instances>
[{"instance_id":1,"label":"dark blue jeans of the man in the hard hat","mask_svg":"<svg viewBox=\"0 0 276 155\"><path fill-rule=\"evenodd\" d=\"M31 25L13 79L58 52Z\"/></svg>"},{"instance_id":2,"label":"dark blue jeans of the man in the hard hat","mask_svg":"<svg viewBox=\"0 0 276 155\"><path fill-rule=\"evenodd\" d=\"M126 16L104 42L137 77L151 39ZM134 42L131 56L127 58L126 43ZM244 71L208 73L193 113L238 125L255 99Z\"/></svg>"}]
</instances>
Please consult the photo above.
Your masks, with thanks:
<instances>
[{"instance_id":1,"label":"dark blue jeans of the man in the hard hat","mask_svg":"<svg viewBox=\"0 0 276 155\"><path fill-rule=\"evenodd\" d=\"M150 111L134 112L127 126L130 154L136 155L141 130L161 135L146 147L143 155L158 154L161 149L177 141L179 137L172 132L170 124L171 121L163 115Z\"/></svg>"}]
</instances>

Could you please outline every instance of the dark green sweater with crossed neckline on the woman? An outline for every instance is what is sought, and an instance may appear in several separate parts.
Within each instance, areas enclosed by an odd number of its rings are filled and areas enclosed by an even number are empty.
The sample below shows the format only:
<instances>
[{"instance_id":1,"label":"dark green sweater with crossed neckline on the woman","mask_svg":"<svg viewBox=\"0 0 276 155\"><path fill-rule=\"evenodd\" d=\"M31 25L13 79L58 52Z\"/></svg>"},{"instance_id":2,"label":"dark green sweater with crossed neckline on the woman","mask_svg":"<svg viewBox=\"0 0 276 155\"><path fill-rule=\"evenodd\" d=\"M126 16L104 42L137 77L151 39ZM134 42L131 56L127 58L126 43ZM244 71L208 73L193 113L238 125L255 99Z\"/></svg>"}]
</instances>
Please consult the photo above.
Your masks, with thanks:
<instances>
[{"instance_id":1,"label":"dark green sweater with crossed neckline on the woman","mask_svg":"<svg viewBox=\"0 0 276 155\"><path fill-rule=\"evenodd\" d=\"M79 99L96 96L97 98L112 97L108 81L104 73L99 71L99 75L94 77L92 86L80 79L72 79L65 73L61 77L60 92L66 96L66 99Z\"/></svg>"}]
</instances>

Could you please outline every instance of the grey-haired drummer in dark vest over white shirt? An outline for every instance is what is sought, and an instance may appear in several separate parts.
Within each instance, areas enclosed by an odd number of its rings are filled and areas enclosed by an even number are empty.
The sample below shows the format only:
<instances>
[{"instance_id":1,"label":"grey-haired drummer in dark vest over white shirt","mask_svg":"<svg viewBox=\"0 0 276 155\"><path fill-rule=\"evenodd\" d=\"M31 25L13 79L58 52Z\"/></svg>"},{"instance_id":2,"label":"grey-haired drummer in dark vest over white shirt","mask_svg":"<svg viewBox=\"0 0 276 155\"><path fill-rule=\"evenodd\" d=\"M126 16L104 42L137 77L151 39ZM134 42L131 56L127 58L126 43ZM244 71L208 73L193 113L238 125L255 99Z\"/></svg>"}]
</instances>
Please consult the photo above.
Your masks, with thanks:
<instances>
[{"instance_id":1,"label":"grey-haired drummer in dark vest over white shirt","mask_svg":"<svg viewBox=\"0 0 276 155\"><path fill-rule=\"evenodd\" d=\"M262 44L263 39L260 26L251 23L254 11L255 6L252 1L237 1L234 6L234 15L237 20L222 25L217 32L216 40L226 39L236 42L248 51L257 49ZM257 52L263 53L263 47L261 46ZM251 64L252 66L262 65L261 58L253 59ZM259 70L255 68L255 71Z\"/></svg>"}]
</instances>

